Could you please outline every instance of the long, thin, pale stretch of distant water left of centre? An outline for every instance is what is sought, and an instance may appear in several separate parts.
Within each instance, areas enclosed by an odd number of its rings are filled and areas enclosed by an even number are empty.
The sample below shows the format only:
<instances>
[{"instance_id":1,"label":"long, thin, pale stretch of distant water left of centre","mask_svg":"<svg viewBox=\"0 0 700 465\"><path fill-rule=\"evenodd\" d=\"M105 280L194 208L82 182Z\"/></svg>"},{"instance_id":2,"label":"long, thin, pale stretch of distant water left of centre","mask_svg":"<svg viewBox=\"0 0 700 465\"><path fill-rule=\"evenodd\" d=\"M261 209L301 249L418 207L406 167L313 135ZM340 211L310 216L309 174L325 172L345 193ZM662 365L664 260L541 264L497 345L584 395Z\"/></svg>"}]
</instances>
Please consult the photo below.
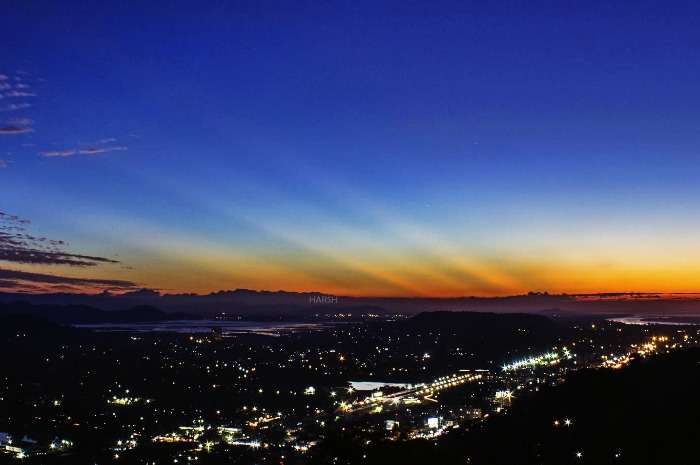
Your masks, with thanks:
<instances>
[{"instance_id":1,"label":"long, thin, pale stretch of distant water left of centre","mask_svg":"<svg viewBox=\"0 0 700 465\"><path fill-rule=\"evenodd\" d=\"M262 334L279 336L293 331L317 331L327 325L322 323L292 323L268 321L225 321L225 320L168 320L146 323L97 323L76 324L77 328L96 331L119 331L129 333L181 333L198 334L221 331L223 336L232 334Z\"/></svg>"}]
</instances>

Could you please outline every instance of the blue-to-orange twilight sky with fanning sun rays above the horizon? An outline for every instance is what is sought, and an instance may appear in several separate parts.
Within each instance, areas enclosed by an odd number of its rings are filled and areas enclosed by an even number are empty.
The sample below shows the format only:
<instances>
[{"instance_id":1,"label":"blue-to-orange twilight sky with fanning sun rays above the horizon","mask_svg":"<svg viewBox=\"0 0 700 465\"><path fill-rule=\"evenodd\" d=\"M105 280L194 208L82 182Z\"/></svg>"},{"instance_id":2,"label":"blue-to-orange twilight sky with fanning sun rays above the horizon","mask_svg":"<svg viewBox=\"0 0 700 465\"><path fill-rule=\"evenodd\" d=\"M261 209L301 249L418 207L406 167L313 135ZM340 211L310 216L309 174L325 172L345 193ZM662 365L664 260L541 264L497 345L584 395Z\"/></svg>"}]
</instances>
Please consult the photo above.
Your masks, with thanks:
<instances>
[{"instance_id":1,"label":"blue-to-orange twilight sky with fanning sun rays above the horizon","mask_svg":"<svg viewBox=\"0 0 700 465\"><path fill-rule=\"evenodd\" d=\"M0 289L697 291L698 24L697 2L5 1Z\"/></svg>"}]
</instances>

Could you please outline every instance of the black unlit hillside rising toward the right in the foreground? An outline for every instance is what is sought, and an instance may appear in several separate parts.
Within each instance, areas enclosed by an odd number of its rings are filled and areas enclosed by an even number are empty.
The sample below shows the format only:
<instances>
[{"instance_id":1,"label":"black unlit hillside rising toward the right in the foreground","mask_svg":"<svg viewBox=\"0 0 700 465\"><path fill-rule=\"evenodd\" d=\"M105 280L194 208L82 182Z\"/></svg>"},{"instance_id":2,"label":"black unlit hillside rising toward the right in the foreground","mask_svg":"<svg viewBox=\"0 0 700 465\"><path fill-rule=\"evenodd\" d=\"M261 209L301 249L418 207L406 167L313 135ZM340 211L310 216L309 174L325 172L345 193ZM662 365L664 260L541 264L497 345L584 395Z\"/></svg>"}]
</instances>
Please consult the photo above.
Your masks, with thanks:
<instances>
[{"instance_id":1,"label":"black unlit hillside rising toward the right in the foreground","mask_svg":"<svg viewBox=\"0 0 700 465\"><path fill-rule=\"evenodd\" d=\"M507 415L439 442L383 442L362 454L327 438L314 464L691 464L700 443L700 349L581 370ZM364 456L364 457L363 457Z\"/></svg>"}]
</instances>

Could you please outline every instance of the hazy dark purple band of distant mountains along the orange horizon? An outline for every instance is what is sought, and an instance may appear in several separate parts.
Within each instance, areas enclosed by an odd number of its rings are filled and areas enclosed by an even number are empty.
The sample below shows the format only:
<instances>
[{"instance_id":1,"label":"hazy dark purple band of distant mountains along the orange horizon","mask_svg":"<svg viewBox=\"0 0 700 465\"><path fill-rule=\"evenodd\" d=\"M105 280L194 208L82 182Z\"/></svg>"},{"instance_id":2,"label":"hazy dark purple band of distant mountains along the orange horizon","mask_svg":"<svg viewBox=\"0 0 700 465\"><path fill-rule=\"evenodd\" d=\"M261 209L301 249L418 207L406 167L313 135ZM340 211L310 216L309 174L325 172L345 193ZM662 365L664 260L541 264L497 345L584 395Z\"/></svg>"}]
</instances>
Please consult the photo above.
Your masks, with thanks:
<instances>
[{"instance_id":1,"label":"hazy dark purple band of distant mountains along the orange horizon","mask_svg":"<svg viewBox=\"0 0 700 465\"><path fill-rule=\"evenodd\" d=\"M211 294L161 294L141 289L125 294L0 293L0 302L23 301L45 305L87 305L102 310L151 306L166 312L197 315L231 313L304 314L362 311L420 313L424 311L483 311L545 313L549 316L587 314L700 314L698 295L659 293L547 294L508 297L347 297L320 292L255 291L236 289Z\"/></svg>"}]
</instances>

